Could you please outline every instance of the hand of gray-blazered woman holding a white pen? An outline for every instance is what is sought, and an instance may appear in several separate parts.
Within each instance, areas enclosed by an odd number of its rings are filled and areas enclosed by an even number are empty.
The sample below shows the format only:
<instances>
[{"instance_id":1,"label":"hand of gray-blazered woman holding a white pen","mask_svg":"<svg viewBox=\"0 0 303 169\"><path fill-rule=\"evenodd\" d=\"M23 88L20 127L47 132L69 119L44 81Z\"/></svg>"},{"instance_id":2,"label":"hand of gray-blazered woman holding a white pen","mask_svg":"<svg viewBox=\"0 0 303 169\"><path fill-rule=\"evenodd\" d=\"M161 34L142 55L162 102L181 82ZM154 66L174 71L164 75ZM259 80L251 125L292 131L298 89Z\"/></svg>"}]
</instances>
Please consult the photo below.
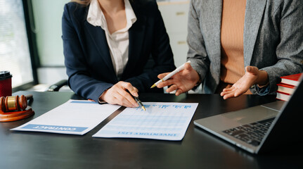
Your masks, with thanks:
<instances>
[{"instance_id":1,"label":"hand of gray-blazered woman holding a white pen","mask_svg":"<svg viewBox=\"0 0 303 169\"><path fill-rule=\"evenodd\" d=\"M168 75L169 73L162 73L158 75L157 77L159 79L162 79L165 77L165 75ZM193 89L195 87L195 84L199 81L200 76L198 73L191 67L190 63L185 63L184 69L181 70L179 73L176 73L172 77L170 77L168 80L165 80L165 82L160 82L157 84L158 88L170 86L166 92L172 92L176 90L176 96L179 96L180 94L187 92L190 89Z\"/></svg>"}]
</instances>

